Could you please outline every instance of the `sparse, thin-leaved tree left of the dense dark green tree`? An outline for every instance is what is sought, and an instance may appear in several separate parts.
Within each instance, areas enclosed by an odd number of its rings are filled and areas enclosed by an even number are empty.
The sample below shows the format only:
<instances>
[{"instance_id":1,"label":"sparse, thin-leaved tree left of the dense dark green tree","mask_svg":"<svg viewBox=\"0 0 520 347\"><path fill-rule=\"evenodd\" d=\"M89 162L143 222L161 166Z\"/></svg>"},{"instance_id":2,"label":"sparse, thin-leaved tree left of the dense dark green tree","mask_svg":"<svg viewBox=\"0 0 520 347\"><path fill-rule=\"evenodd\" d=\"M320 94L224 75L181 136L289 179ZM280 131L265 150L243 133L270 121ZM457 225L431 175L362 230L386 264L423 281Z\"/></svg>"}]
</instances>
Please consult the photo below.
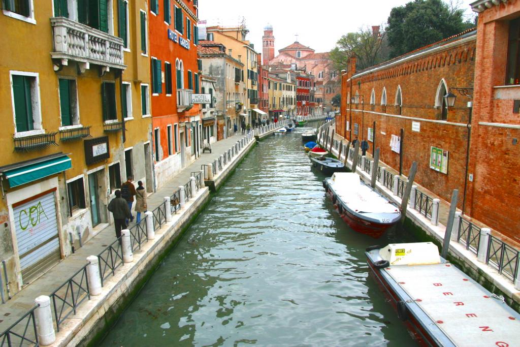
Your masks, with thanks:
<instances>
[{"instance_id":1,"label":"sparse, thin-leaved tree left of the dense dark green tree","mask_svg":"<svg viewBox=\"0 0 520 347\"><path fill-rule=\"evenodd\" d=\"M341 36L330 52L330 59L334 68L341 71L348 68L348 59L355 55L357 57L357 70L363 70L380 63L386 58L384 55L385 43L384 29L373 32L368 27L359 28L357 32Z\"/></svg>"}]
</instances>

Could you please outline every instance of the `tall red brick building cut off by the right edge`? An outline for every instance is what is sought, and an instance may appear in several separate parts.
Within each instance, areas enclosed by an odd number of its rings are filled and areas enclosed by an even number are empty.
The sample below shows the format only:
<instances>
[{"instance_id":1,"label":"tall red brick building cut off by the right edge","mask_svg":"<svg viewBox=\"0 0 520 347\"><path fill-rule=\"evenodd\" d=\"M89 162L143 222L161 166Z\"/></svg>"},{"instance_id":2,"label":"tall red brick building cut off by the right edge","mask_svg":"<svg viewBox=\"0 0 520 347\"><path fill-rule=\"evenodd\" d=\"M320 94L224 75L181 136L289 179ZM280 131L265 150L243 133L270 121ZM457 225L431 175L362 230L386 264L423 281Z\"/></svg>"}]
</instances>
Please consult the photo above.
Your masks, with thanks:
<instances>
[{"instance_id":1,"label":"tall red brick building cut off by the right edge","mask_svg":"<svg viewBox=\"0 0 520 347\"><path fill-rule=\"evenodd\" d=\"M495 5L498 4L498 5ZM520 2L472 3L478 12L468 212L520 241Z\"/></svg>"}]
</instances>

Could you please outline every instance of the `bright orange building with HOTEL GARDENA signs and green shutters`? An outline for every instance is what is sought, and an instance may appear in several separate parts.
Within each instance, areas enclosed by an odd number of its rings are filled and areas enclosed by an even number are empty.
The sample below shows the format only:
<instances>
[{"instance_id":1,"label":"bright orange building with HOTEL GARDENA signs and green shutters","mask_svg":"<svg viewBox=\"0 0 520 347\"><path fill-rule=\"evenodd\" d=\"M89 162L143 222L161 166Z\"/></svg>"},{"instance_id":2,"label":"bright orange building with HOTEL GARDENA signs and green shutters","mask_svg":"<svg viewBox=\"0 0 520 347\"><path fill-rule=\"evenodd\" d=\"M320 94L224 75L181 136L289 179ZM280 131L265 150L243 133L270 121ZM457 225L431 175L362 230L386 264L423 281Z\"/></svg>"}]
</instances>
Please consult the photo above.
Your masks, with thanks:
<instances>
[{"instance_id":1,"label":"bright orange building with HOTEL GARDENA signs and green shutters","mask_svg":"<svg viewBox=\"0 0 520 347\"><path fill-rule=\"evenodd\" d=\"M156 186L200 155L197 2L150 0L150 88Z\"/></svg>"}]
</instances>

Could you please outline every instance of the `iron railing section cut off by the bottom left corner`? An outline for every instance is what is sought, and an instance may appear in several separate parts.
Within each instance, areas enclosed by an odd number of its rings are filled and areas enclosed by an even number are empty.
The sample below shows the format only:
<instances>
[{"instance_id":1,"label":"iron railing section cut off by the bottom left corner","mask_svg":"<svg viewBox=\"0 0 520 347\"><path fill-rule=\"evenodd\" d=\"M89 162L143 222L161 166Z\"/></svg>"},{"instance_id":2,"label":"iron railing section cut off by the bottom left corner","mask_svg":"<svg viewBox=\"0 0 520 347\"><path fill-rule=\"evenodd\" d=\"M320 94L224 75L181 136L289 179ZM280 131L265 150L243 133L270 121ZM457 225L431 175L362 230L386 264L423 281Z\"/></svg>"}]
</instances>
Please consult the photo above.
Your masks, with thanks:
<instances>
[{"instance_id":1,"label":"iron railing section cut off by the bottom left corner","mask_svg":"<svg viewBox=\"0 0 520 347\"><path fill-rule=\"evenodd\" d=\"M34 306L0 335L0 346L40 345L34 317L34 310L39 306Z\"/></svg>"}]
</instances>

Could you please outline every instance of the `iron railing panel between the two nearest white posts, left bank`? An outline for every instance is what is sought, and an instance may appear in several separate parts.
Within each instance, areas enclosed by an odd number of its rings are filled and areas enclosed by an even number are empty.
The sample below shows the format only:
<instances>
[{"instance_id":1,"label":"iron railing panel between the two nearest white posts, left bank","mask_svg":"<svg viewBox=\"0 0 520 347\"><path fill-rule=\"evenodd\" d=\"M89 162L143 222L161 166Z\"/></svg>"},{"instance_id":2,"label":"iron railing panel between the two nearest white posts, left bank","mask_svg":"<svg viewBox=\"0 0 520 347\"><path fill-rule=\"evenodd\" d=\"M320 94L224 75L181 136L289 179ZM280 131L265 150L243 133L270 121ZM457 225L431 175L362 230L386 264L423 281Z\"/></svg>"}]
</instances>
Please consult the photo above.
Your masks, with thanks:
<instances>
[{"instance_id":1,"label":"iron railing panel between the two nearest white posts, left bank","mask_svg":"<svg viewBox=\"0 0 520 347\"><path fill-rule=\"evenodd\" d=\"M53 300L56 328L60 331L60 324L72 313L76 314L77 307L85 300L90 300L88 290L87 266L85 264L74 275L56 289L50 298Z\"/></svg>"}]
</instances>

